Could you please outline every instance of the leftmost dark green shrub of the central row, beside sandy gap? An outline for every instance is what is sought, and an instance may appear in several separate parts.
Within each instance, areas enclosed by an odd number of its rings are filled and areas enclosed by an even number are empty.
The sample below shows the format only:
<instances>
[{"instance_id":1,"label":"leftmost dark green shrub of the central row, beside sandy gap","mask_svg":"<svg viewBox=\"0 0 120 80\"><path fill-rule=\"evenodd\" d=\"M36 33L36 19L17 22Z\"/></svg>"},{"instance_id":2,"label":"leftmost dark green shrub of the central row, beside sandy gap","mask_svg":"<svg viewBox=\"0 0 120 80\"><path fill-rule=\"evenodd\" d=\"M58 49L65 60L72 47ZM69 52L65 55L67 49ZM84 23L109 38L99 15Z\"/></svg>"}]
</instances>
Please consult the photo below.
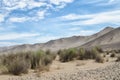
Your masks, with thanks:
<instances>
[{"instance_id":1,"label":"leftmost dark green shrub of the central row, beside sandy gap","mask_svg":"<svg viewBox=\"0 0 120 80\"><path fill-rule=\"evenodd\" d=\"M60 61L61 62L68 62L68 61L72 61L76 56L76 49L71 48L71 49L67 49L67 50L63 50L60 53Z\"/></svg>"}]
</instances>

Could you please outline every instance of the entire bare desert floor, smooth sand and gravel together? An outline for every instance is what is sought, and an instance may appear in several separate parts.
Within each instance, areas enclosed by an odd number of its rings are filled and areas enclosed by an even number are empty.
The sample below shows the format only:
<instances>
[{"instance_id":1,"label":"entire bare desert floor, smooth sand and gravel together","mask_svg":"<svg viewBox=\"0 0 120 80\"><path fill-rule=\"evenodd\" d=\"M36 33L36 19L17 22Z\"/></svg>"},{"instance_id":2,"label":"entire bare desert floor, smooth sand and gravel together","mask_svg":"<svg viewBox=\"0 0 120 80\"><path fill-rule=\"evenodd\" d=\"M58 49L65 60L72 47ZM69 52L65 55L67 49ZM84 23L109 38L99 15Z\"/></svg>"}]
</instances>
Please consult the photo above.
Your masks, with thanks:
<instances>
[{"instance_id":1,"label":"entire bare desert floor, smooth sand and gravel together","mask_svg":"<svg viewBox=\"0 0 120 80\"><path fill-rule=\"evenodd\" d=\"M120 62L96 63L75 60L61 63L55 60L48 72L34 72L21 76L0 75L0 80L120 80Z\"/></svg>"}]
</instances>

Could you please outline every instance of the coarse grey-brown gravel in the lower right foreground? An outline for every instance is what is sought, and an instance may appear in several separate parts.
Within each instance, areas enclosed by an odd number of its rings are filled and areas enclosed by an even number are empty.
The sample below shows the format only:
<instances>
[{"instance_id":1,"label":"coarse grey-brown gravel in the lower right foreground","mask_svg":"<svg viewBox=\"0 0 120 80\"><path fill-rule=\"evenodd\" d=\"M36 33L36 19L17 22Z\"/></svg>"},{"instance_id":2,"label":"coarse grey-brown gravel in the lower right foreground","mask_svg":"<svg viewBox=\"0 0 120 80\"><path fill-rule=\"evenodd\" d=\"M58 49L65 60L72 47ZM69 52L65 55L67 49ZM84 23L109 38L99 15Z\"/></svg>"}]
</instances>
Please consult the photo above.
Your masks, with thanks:
<instances>
[{"instance_id":1,"label":"coarse grey-brown gravel in the lower right foreground","mask_svg":"<svg viewBox=\"0 0 120 80\"><path fill-rule=\"evenodd\" d=\"M120 80L120 62L115 62L105 68L57 72L56 74L29 76L9 80Z\"/></svg>"}]
</instances>

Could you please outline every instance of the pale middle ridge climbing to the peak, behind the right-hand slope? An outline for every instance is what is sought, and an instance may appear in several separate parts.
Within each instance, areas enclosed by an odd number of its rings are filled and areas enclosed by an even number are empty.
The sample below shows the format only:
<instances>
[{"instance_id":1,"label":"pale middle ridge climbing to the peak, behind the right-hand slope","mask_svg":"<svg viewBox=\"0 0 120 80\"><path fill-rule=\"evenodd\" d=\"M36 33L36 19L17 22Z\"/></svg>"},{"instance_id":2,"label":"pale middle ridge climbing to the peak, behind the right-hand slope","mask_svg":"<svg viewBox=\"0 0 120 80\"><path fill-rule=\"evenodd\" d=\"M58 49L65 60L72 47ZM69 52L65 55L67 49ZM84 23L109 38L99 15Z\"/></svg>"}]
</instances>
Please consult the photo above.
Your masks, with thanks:
<instances>
[{"instance_id":1,"label":"pale middle ridge climbing to the peak, behind the right-hand slope","mask_svg":"<svg viewBox=\"0 0 120 80\"><path fill-rule=\"evenodd\" d=\"M68 38L61 38L57 40L51 40L43 45L43 49L50 49L50 50L59 50L59 49L65 49L65 48L73 48L80 45L83 45L89 41L92 41L110 31L112 31L114 28L112 27L106 27L102 31L93 34L91 36L73 36Z\"/></svg>"}]
</instances>

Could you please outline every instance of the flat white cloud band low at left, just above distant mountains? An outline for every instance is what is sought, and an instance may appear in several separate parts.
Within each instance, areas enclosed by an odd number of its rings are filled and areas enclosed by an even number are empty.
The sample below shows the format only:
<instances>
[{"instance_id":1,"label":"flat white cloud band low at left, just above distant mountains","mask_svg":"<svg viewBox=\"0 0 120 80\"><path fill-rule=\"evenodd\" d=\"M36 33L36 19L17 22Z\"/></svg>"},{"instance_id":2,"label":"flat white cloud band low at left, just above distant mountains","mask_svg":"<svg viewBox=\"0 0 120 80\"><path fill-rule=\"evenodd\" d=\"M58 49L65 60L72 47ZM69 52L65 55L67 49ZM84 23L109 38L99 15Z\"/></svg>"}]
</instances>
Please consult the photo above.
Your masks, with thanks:
<instances>
[{"instance_id":1,"label":"flat white cloud band low at left, just above distant mountains","mask_svg":"<svg viewBox=\"0 0 120 80\"><path fill-rule=\"evenodd\" d=\"M39 36L38 33L7 33L0 34L0 40L15 40L15 39L25 39L29 37Z\"/></svg>"}]
</instances>

